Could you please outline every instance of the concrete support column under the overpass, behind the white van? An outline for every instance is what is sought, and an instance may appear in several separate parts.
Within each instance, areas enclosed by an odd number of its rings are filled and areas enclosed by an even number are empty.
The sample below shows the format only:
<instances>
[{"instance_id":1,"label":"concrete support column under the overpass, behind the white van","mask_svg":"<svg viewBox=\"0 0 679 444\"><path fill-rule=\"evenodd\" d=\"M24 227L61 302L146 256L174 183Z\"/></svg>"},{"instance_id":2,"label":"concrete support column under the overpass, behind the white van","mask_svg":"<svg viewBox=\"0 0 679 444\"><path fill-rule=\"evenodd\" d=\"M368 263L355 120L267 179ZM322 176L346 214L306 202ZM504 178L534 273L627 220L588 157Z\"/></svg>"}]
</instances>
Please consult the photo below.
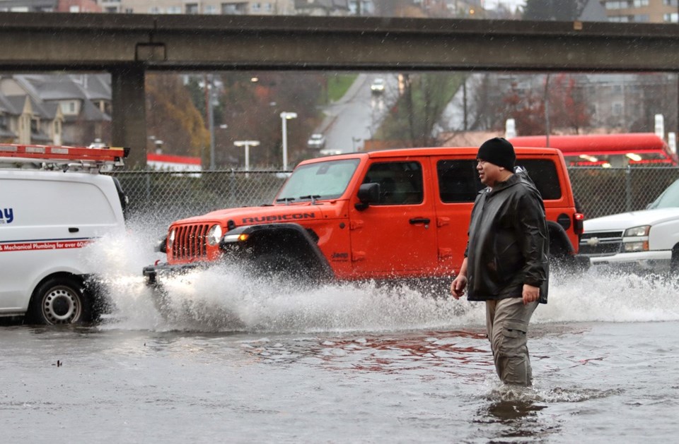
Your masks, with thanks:
<instances>
[{"instance_id":1,"label":"concrete support column under the overpass, behind the white van","mask_svg":"<svg viewBox=\"0 0 679 444\"><path fill-rule=\"evenodd\" d=\"M112 68L112 145L130 148L127 169L146 166L146 93L144 66Z\"/></svg>"}]
</instances>

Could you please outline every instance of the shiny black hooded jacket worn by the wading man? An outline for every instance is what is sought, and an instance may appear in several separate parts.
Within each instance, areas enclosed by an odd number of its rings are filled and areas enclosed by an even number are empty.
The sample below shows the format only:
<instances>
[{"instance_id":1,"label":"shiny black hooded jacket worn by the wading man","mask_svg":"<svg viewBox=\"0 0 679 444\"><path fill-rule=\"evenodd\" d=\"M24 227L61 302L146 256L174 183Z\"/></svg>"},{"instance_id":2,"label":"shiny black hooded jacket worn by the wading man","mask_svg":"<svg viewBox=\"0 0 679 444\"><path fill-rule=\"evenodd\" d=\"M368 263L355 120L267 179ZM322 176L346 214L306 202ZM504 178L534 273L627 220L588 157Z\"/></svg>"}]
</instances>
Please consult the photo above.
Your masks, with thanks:
<instances>
[{"instance_id":1,"label":"shiny black hooded jacket worn by the wading man","mask_svg":"<svg viewBox=\"0 0 679 444\"><path fill-rule=\"evenodd\" d=\"M465 251L468 299L521 297L530 284L547 304L549 244L545 205L525 170L480 191Z\"/></svg>"}]
</instances>

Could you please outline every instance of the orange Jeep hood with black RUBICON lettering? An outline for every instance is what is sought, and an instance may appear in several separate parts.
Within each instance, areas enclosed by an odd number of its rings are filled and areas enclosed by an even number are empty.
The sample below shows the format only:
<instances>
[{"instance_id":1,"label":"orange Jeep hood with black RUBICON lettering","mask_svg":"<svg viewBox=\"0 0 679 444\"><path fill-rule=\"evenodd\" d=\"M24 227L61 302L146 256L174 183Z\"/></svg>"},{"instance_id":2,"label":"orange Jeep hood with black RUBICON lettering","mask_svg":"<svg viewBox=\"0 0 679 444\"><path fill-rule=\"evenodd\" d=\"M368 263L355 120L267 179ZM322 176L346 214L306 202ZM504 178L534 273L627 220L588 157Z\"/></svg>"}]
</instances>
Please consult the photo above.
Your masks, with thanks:
<instances>
[{"instance_id":1,"label":"orange Jeep hood with black RUBICON lettering","mask_svg":"<svg viewBox=\"0 0 679 444\"><path fill-rule=\"evenodd\" d=\"M322 219L322 205L271 205L266 207L240 207L216 210L202 216L189 217L177 220L173 225L199 224L205 222L219 222L226 226L229 220L233 220L236 227L252 224L272 224L276 222L297 222L302 220Z\"/></svg>"}]
</instances>

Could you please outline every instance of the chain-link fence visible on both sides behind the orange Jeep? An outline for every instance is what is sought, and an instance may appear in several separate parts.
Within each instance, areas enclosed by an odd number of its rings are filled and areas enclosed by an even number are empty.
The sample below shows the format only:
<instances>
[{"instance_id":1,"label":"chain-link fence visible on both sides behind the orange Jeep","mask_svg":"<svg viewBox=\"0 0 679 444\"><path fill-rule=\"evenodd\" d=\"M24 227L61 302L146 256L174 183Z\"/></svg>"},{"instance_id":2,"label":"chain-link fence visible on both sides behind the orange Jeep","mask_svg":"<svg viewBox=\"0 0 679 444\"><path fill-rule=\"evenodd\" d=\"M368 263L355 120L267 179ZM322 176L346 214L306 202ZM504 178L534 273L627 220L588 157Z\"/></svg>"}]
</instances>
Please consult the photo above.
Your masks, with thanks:
<instances>
[{"instance_id":1,"label":"chain-link fence visible on both sides behind the orange Jeep","mask_svg":"<svg viewBox=\"0 0 679 444\"><path fill-rule=\"evenodd\" d=\"M158 224L224 208L270 204L286 172L115 172L129 198L129 217ZM587 219L642 210L673 181L679 168L571 167L569 176Z\"/></svg>"}]
</instances>

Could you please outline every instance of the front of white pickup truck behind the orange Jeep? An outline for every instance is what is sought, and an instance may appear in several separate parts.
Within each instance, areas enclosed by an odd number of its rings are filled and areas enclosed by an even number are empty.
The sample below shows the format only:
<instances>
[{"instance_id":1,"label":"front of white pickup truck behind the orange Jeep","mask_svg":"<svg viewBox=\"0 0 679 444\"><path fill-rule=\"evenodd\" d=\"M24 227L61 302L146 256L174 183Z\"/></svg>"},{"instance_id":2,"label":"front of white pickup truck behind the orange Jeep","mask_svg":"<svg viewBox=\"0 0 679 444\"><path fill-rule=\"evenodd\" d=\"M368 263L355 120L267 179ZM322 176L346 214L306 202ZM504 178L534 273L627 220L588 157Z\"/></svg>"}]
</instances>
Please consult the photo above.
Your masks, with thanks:
<instances>
[{"instance_id":1,"label":"front of white pickup truck behind the orange Jeep","mask_svg":"<svg viewBox=\"0 0 679 444\"><path fill-rule=\"evenodd\" d=\"M646 210L585 220L580 253L590 258L592 267L679 271L679 180Z\"/></svg>"}]
</instances>

